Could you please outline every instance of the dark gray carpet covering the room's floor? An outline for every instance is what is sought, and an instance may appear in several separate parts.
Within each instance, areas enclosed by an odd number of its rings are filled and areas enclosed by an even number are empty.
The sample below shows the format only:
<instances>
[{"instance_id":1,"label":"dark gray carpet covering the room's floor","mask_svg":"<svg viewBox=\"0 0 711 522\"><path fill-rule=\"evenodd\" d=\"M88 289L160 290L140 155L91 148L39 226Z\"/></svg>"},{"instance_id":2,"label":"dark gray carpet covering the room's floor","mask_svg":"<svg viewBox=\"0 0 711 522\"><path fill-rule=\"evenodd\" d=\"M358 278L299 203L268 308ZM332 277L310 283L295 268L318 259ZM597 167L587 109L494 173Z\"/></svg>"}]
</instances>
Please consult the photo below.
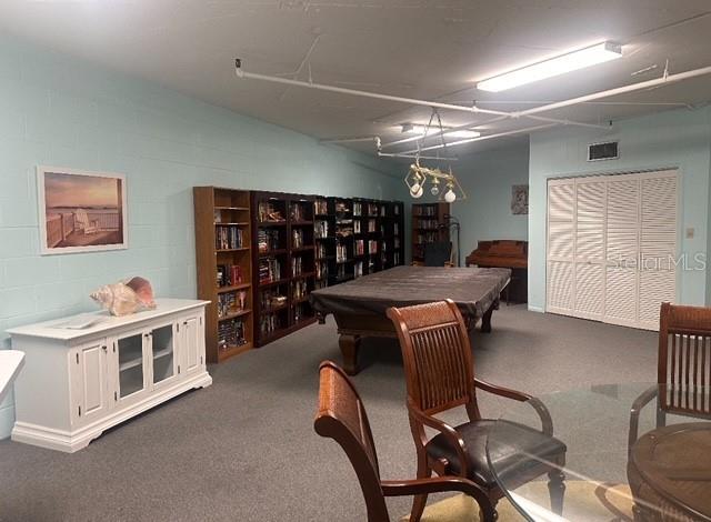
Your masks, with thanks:
<instances>
[{"instance_id":1,"label":"dark gray carpet covering the room's floor","mask_svg":"<svg viewBox=\"0 0 711 522\"><path fill-rule=\"evenodd\" d=\"M655 334L502 307L473 335L482 379L543 393L651 381ZM340 361L336 328L314 324L212 367L214 384L63 454L0 442L0 521L363 521L350 464L316 435L317 368ZM412 478L400 351L367 342L354 381L385 479ZM38 393L43 393L38 390ZM493 415L498 404L483 401ZM389 501L391 516L410 499Z\"/></svg>"}]
</instances>

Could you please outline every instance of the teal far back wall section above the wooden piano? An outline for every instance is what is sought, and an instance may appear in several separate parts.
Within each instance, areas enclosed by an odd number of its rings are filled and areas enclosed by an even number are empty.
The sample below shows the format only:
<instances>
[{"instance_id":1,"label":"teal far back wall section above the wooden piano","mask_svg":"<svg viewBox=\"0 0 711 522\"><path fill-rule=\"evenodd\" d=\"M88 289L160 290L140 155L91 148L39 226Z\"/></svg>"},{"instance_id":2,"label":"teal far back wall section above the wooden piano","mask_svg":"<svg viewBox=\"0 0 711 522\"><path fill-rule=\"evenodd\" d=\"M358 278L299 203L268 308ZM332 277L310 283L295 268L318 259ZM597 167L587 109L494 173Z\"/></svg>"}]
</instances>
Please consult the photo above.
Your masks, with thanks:
<instances>
[{"instance_id":1,"label":"teal far back wall section above the wooden piano","mask_svg":"<svg viewBox=\"0 0 711 522\"><path fill-rule=\"evenodd\" d=\"M467 200L452 203L461 223L462 263L487 239L528 238L528 217L511 213L511 185L529 182L529 147L509 147L460 157L452 163Z\"/></svg>"}]
</instances>

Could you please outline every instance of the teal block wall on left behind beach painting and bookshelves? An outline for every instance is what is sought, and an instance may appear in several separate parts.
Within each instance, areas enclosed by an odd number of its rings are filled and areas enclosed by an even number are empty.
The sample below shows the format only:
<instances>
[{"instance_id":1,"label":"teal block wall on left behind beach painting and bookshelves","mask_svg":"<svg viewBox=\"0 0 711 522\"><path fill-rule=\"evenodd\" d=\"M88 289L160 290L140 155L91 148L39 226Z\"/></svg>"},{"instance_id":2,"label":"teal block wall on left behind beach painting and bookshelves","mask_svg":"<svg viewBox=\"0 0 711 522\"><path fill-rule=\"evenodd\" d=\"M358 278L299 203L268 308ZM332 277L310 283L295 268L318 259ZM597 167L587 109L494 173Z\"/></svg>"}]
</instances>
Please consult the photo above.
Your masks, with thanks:
<instances>
[{"instance_id":1,"label":"teal block wall on left behind beach painting and bookshelves","mask_svg":"<svg viewBox=\"0 0 711 522\"><path fill-rule=\"evenodd\" d=\"M127 175L129 250L39 255L34 169ZM392 199L389 163L154 84L0 38L0 348L4 330L96 307L89 292L140 274L196 297L193 185ZM13 422L0 405L0 438Z\"/></svg>"}]
</instances>

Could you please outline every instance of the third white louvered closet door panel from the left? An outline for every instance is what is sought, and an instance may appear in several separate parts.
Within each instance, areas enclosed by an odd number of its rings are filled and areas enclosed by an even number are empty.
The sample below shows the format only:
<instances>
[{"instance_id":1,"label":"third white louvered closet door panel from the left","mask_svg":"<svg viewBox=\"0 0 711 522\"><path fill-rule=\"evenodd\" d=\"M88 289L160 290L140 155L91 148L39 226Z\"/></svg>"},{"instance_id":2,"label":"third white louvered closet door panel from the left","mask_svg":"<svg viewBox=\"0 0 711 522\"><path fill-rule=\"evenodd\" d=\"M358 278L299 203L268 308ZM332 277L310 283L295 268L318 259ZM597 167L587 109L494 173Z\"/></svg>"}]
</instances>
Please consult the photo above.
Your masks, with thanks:
<instances>
[{"instance_id":1,"label":"third white louvered closet door panel from the left","mask_svg":"<svg viewBox=\"0 0 711 522\"><path fill-rule=\"evenodd\" d=\"M637 327L640 178L637 174L610 177L607 185L603 321Z\"/></svg>"}]
</instances>

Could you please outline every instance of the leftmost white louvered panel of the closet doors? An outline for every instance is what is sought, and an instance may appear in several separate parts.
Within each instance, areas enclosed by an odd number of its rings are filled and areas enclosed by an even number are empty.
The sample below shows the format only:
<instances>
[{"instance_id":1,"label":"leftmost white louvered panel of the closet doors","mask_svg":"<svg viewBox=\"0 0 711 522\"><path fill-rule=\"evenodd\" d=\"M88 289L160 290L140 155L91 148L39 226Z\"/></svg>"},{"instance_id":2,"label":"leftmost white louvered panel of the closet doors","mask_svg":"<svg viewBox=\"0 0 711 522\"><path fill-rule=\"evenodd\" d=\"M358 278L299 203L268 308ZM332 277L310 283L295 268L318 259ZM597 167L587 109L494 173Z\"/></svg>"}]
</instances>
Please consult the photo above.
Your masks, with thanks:
<instances>
[{"instance_id":1,"label":"leftmost white louvered panel of the closet doors","mask_svg":"<svg viewBox=\"0 0 711 522\"><path fill-rule=\"evenodd\" d=\"M549 312L572 314L574 181L548 183L547 304Z\"/></svg>"}]
</instances>

